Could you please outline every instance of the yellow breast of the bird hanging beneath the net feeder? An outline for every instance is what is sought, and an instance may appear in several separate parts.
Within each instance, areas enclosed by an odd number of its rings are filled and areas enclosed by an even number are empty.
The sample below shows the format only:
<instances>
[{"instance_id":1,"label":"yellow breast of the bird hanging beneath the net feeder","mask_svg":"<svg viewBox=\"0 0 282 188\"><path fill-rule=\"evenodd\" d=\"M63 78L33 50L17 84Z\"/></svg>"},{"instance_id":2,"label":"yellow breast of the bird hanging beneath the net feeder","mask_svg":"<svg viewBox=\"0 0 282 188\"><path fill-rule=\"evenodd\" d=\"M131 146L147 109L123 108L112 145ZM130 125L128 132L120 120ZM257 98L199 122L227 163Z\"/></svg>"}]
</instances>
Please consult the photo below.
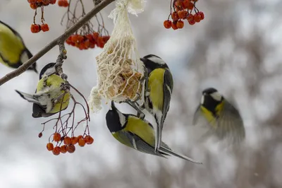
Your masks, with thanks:
<instances>
[{"instance_id":1,"label":"yellow breast of the bird hanging beneath the net feeder","mask_svg":"<svg viewBox=\"0 0 282 188\"><path fill-rule=\"evenodd\" d=\"M151 146L154 146L154 129L152 129L152 127L150 127L149 124L142 119L130 116L124 130L136 134L145 142L149 143Z\"/></svg>"}]
</instances>

